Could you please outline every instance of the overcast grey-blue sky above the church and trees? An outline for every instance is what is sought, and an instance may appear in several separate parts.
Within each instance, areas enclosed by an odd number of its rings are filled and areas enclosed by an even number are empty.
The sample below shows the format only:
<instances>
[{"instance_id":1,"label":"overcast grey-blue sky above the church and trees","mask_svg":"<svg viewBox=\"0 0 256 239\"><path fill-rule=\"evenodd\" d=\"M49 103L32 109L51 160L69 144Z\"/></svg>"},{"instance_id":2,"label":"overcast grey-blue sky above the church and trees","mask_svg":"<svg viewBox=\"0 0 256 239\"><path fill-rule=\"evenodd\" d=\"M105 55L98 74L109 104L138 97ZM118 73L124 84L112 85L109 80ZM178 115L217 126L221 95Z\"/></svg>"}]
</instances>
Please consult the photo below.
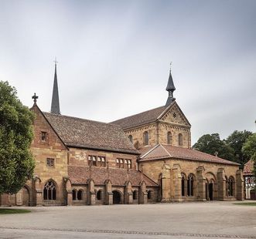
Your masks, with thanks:
<instances>
[{"instance_id":1,"label":"overcast grey-blue sky above the church and trees","mask_svg":"<svg viewBox=\"0 0 256 239\"><path fill-rule=\"evenodd\" d=\"M2 1L0 80L49 111L111 122L174 96L206 133L255 132L256 1Z\"/></svg>"}]
</instances>

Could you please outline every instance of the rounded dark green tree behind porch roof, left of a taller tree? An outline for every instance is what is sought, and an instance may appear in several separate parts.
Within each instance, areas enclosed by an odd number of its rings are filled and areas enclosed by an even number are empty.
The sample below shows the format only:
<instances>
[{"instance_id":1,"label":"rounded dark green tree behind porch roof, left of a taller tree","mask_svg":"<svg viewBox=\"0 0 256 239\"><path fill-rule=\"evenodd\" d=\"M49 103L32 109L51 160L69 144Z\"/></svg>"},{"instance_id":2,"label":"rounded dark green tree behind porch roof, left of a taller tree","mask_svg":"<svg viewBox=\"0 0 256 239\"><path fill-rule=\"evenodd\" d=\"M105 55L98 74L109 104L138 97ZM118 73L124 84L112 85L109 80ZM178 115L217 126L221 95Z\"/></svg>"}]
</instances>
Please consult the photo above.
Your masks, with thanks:
<instances>
[{"instance_id":1,"label":"rounded dark green tree behind porch roof, left of a taller tree","mask_svg":"<svg viewBox=\"0 0 256 239\"><path fill-rule=\"evenodd\" d=\"M224 140L220 140L218 133L205 134L199 138L199 140L193 145L193 149L199 150L204 153L216 155L224 160L234 161L234 150L225 143Z\"/></svg>"}]
</instances>

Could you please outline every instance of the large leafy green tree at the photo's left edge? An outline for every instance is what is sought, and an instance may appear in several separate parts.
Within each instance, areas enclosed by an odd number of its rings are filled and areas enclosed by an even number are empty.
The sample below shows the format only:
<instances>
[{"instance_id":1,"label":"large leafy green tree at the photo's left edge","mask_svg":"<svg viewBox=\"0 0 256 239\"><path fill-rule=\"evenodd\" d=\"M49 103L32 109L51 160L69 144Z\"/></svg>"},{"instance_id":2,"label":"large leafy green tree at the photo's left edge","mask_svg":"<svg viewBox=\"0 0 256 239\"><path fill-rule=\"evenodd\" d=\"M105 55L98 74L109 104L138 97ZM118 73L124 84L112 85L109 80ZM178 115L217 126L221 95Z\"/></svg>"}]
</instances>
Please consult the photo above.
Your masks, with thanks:
<instances>
[{"instance_id":1,"label":"large leafy green tree at the photo's left edge","mask_svg":"<svg viewBox=\"0 0 256 239\"><path fill-rule=\"evenodd\" d=\"M15 88L0 81L0 194L15 194L32 177L35 163L29 146L33 118Z\"/></svg>"}]
</instances>

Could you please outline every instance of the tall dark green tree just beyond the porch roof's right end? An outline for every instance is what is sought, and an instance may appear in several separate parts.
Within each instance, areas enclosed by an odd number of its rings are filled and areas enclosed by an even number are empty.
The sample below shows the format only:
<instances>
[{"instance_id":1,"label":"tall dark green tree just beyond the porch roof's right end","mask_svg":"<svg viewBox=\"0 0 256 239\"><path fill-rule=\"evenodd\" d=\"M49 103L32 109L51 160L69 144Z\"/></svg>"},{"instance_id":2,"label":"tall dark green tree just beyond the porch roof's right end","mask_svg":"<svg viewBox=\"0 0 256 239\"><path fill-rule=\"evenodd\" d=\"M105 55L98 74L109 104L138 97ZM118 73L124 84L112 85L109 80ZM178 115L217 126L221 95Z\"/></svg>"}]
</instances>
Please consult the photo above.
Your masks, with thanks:
<instances>
[{"instance_id":1,"label":"tall dark green tree just beyond the porch roof's right end","mask_svg":"<svg viewBox=\"0 0 256 239\"><path fill-rule=\"evenodd\" d=\"M244 163L250 160L247 155L242 152L242 147L249 136L251 136L251 131L237 131L235 130L230 136L227 137L226 143L231 146L234 150L234 159L237 163L241 163L241 167L244 167Z\"/></svg>"}]
</instances>

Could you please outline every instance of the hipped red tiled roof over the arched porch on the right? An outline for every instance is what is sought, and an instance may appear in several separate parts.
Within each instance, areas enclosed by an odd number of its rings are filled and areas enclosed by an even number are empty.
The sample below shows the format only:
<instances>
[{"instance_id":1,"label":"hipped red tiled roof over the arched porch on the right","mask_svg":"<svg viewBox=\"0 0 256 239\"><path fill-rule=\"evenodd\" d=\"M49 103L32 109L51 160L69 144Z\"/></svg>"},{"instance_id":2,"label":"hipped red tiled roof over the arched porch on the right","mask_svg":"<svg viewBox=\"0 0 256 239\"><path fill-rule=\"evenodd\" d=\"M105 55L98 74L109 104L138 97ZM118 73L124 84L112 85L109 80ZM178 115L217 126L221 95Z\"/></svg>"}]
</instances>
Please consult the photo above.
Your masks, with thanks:
<instances>
[{"instance_id":1,"label":"hipped red tiled roof over the arched porch on the right","mask_svg":"<svg viewBox=\"0 0 256 239\"><path fill-rule=\"evenodd\" d=\"M179 146L171 146L166 144L159 144L152 151L149 151L149 153L145 154L145 156L142 157L140 161L157 160L165 158L177 158L183 160L196 160L210 163L239 165L239 163L224 160L220 157L215 157L208 153L203 153L197 150L187 149Z\"/></svg>"}]
</instances>

